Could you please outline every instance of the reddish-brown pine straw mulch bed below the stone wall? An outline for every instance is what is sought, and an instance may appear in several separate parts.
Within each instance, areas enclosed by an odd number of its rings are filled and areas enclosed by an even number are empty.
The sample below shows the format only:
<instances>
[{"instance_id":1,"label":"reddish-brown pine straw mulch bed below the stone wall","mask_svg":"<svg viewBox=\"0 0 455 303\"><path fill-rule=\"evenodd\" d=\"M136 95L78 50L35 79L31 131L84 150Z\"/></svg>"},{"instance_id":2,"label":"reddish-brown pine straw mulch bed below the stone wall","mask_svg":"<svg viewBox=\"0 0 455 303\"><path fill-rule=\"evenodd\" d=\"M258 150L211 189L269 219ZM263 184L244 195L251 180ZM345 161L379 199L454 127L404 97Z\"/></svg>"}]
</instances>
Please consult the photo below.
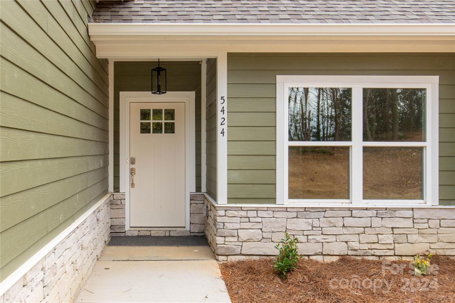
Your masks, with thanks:
<instances>
[{"instance_id":1,"label":"reddish-brown pine straw mulch bed below the stone wall","mask_svg":"<svg viewBox=\"0 0 455 303\"><path fill-rule=\"evenodd\" d=\"M455 260L435 256L431 264L432 274L414 277L409 261L302 259L285 281L274 272L273 259L220 267L233 303L455 302Z\"/></svg>"}]
</instances>

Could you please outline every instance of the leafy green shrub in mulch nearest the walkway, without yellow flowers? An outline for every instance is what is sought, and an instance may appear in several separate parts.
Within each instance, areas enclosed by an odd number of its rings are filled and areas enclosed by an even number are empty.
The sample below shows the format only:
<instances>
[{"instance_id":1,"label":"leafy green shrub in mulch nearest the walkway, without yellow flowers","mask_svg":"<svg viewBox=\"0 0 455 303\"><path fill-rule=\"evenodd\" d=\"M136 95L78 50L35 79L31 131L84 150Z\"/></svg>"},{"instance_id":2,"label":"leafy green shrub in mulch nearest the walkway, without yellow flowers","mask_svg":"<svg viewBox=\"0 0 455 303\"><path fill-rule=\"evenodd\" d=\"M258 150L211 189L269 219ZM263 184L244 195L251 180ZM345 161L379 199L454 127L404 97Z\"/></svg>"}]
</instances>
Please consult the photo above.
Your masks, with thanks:
<instances>
[{"instance_id":1,"label":"leafy green shrub in mulch nearest the walkway, without yellow flowers","mask_svg":"<svg viewBox=\"0 0 455 303\"><path fill-rule=\"evenodd\" d=\"M292 238L286 232L284 233L284 239L275 245L275 248L280 251L278 258L275 261L275 271L280 277L285 280L287 274L297 267L298 259L301 259L297 252L297 238Z\"/></svg>"}]
</instances>

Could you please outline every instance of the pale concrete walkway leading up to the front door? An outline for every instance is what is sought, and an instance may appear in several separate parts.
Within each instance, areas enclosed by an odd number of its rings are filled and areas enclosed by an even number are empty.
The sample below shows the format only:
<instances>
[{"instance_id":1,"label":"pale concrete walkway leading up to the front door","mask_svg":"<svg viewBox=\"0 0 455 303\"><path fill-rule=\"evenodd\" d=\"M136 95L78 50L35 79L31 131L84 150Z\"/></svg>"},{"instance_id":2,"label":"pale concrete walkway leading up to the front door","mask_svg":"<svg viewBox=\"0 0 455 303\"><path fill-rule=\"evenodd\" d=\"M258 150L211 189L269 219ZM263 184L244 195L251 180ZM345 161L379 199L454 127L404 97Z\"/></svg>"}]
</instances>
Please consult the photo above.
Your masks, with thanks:
<instances>
[{"instance_id":1,"label":"pale concrete walkway leading up to the front door","mask_svg":"<svg viewBox=\"0 0 455 303\"><path fill-rule=\"evenodd\" d=\"M106 246L75 302L231 302L208 246Z\"/></svg>"}]
</instances>

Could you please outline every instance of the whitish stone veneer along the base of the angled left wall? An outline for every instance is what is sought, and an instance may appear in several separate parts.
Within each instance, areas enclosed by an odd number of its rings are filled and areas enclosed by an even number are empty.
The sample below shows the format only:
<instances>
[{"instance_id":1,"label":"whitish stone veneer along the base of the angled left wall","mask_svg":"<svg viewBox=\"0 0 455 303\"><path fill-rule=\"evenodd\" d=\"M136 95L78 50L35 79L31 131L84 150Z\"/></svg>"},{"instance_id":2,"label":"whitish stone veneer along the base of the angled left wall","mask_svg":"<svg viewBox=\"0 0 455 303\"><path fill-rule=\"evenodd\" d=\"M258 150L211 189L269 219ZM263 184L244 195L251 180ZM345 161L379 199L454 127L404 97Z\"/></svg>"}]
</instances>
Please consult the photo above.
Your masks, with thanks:
<instances>
[{"instance_id":1,"label":"whitish stone veneer along the base of the angled left wall","mask_svg":"<svg viewBox=\"0 0 455 303\"><path fill-rule=\"evenodd\" d=\"M109 240L111 197L10 287L0 302L72 302Z\"/></svg>"}]
</instances>

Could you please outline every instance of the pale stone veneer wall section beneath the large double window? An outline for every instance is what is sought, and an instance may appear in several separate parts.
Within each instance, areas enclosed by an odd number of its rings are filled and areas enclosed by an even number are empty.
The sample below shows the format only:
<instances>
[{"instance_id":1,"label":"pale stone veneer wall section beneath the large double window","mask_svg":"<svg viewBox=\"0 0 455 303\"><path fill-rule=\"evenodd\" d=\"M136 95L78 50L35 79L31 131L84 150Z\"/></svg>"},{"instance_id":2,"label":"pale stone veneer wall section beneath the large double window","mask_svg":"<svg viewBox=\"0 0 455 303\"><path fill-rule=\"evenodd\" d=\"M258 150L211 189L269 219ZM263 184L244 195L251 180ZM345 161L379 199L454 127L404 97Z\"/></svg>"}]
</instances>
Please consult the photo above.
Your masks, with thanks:
<instances>
[{"instance_id":1,"label":"pale stone veneer wall section beneath the large double window","mask_svg":"<svg viewBox=\"0 0 455 303\"><path fill-rule=\"evenodd\" d=\"M455 208L230 207L208 199L205 206L206 237L219 261L276 255L285 231L299 239L300 254L320 260L455 256Z\"/></svg>"}]
</instances>

